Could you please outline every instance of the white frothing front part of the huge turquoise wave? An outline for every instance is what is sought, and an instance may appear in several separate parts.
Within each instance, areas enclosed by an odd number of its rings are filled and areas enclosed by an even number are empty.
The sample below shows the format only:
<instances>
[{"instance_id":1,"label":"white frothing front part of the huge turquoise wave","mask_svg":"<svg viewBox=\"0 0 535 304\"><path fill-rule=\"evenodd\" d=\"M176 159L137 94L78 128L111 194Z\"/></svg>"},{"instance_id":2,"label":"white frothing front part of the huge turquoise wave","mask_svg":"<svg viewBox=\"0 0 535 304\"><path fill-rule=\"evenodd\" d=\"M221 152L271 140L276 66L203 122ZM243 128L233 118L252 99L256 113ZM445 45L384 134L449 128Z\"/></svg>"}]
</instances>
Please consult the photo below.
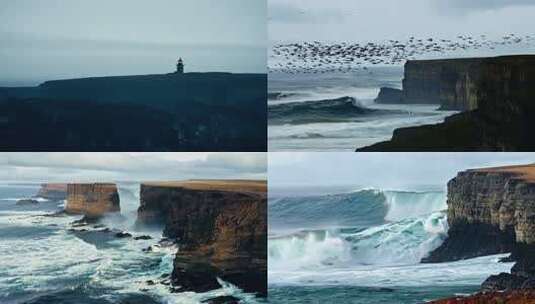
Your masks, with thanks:
<instances>
[{"instance_id":1,"label":"white frothing front part of the huge turquoise wave","mask_svg":"<svg viewBox=\"0 0 535 304\"><path fill-rule=\"evenodd\" d=\"M445 214L433 213L355 232L306 231L269 240L271 268L369 264L415 264L440 246L447 233Z\"/></svg>"}]
</instances>

